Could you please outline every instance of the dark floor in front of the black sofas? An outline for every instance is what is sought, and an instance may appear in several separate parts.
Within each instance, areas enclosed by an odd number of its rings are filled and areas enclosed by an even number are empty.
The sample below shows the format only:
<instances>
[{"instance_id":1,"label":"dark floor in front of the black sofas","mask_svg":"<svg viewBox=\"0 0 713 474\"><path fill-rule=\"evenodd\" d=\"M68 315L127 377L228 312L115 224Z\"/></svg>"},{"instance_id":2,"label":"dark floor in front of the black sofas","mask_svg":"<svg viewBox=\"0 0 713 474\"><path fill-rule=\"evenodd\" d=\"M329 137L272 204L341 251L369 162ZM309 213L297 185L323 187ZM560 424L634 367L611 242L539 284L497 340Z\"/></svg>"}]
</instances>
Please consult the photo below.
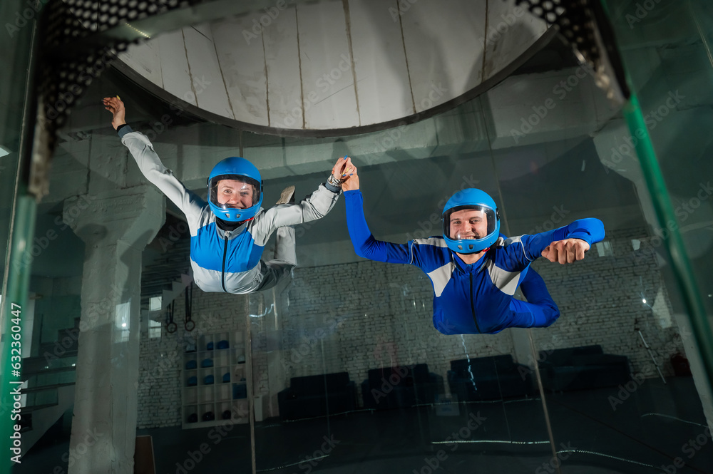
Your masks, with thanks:
<instances>
[{"instance_id":1,"label":"dark floor in front of the black sofas","mask_svg":"<svg viewBox=\"0 0 713 474\"><path fill-rule=\"evenodd\" d=\"M655 379L645 381L623 403L616 403L616 410L612 401L623 398L619 388L549 394L561 473L713 474L713 442L703 426L692 378L667 381L667 385ZM538 399L461 404L455 416L448 408L453 407L257 423L257 471L555 473L557 462ZM451 441L449 436L458 431L466 443L438 443ZM176 427L139 434L153 436L159 474L251 470L249 425L223 433L215 428ZM204 453L200 453L201 445ZM61 458L67 450L66 436L46 440L14 472L66 473L67 463Z\"/></svg>"}]
</instances>

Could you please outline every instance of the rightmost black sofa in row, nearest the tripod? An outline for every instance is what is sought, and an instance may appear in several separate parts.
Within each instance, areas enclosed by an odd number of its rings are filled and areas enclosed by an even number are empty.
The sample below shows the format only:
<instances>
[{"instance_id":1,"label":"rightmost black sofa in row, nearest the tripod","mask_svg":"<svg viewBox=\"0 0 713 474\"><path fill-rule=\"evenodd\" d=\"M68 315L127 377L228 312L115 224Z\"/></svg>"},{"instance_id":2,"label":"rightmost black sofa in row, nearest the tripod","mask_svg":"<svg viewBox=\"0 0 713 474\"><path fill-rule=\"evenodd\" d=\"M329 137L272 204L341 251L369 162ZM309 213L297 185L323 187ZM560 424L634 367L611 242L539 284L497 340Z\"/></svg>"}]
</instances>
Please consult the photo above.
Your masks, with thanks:
<instances>
[{"instance_id":1,"label":"rightmost black sofa in row, nearest the tripod","mask_svg":"<svg viewBox=\"0 0 713 474\"><path fill-rule=\"evenodd\" d=\"M604 354L598 345L540 351L539 366L549 391L615 387L631 378L629 358Z\"/></svg>"}]
</instances>

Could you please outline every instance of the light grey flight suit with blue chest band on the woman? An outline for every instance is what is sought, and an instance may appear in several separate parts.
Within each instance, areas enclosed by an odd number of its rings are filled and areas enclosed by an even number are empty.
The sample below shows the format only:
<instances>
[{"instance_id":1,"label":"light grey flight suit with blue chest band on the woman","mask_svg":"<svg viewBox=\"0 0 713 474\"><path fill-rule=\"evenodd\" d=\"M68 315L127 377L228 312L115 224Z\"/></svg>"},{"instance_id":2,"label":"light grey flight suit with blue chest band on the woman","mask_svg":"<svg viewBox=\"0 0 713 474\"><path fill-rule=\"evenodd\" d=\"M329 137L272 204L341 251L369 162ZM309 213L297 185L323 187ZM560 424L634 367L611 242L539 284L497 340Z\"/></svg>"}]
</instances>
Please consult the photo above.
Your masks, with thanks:
<instances>
[{"instance_id":1,"label":"light grey flight suit with blue chest band on the woman","mask_svg":"<svg viewBox=\"0 0 713 474\"><path fill-rule=\"evenodd\" d=\"M319 185L299 204L283 204L257 212L235 230L223 230L210 206L186 189L153 150L146 135L128 125L118 134L143 175L185 214L190 229L190 266L193 280L204 292L245 294L275 286L297 265L292 226L327 215L341 190ZM264 262L262 250L277 230L275 259Z\"/></svg>"}]
</instances>

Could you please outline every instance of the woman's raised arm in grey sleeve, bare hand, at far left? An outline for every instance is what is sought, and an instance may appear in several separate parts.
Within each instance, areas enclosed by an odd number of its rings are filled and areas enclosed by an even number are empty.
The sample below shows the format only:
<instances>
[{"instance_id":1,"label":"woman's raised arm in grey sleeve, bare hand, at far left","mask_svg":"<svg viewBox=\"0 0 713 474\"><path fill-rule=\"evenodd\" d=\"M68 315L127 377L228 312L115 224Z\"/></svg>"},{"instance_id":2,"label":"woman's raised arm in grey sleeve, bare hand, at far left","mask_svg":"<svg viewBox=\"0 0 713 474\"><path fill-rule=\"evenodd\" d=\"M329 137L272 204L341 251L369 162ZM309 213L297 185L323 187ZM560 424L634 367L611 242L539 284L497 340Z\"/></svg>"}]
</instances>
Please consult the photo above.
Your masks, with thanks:
<instances>
[{"instance_id":1,"label":"woman's raised arm in grey sleeve, bare hand, at far left","mask_svg":"<svg viewBox=\"0 0 713 474\"><path fill-rule=\"evenodd\" d=\"M186 217L197 217L205 202L195 193L187 190L173 172L161 163L153 145L143 133L134 132L124 120L125 108L122 101L115 97L103 100L106 110L113 113L111 125L117 130L121 143L128 148L138 165L141 174L163 192Z\"/></svg>"}]
</instances>

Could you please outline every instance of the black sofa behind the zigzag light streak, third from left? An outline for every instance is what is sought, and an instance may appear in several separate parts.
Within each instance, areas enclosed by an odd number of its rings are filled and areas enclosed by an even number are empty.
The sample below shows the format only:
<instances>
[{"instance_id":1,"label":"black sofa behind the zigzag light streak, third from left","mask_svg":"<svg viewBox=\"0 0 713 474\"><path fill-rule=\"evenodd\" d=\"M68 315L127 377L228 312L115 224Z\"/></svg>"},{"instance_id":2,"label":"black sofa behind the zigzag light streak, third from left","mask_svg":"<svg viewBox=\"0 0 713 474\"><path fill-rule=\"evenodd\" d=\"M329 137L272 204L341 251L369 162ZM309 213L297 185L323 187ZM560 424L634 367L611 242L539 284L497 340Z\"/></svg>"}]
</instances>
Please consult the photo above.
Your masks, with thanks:
<instances>
[{"instance_id":1,"label":"black sofa behind the zigzag light streak, third from left","mask_svg":"<svg viewBox=\"0 0 713 474\"><path fill-rule=\"evenodd\" d=\"M451 361L448 386L458 401L532 396L534 388L531 372L527 366L515 364L510 354L478 357L471 359L470 363L468 359L459 359Z\"/></svg>"}]
</instances>

